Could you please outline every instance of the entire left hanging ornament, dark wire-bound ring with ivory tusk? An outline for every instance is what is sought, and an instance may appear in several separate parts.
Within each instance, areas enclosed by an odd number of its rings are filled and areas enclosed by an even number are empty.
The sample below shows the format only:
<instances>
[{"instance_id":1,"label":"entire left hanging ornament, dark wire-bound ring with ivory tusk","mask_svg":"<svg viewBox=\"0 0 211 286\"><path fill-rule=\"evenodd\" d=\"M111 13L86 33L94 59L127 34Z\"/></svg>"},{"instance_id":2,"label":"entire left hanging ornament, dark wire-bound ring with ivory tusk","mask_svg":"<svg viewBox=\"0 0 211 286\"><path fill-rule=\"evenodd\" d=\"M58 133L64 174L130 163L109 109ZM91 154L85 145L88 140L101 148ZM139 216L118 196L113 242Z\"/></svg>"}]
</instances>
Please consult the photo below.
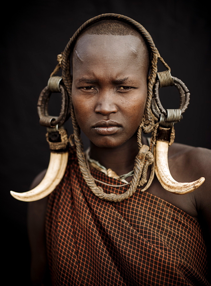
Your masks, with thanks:
<instances>
[{"instance_id":1,"label":"entire left hanging ornament, dark wire-bound ring with ivory tusk","mask_svg":"<svg viewBox=\"0 0 211 286\"><path fill-rule=\"evenodd\" d=\"M40 117L40 124L47 127L46 139L49 143L51 156L49 166L43 180L38 186L30 191L18 193L11 191L11 195L17 200L31 202L48 196L61 182L68 161L68 136L63 127L69 117L69 102L65 87L61 84L61 77L51 76L37 103L37 110ZM49 116L48 103L51 93L61 93L62 106L59 116ZM70 141L72 144L72 141Z\"/></svg>"}]
</instances>

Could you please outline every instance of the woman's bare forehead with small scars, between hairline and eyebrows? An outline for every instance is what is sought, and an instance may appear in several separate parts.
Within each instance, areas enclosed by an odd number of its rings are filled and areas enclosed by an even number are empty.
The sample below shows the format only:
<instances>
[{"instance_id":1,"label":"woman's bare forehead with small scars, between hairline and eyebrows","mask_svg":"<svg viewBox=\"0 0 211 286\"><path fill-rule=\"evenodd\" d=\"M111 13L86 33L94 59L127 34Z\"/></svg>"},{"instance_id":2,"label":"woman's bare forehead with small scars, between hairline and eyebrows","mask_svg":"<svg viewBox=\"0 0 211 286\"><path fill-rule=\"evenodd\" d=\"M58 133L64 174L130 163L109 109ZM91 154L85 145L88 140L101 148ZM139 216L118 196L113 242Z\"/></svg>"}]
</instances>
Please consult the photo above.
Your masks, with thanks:
<instances>
[{"instance_id":1,"label":"woman's bare forehead with small scars, between hairline and eyebrows","mask_svg":"<svg viewBox=\"0 0 211 286\"><path fill-rule=\"evenodd\" d=\"M134 35L84 34L73 50L73 68L81 65L109 65L132 63L139 67L148 65L146 45Z\"/></svg>"}]
</instances>

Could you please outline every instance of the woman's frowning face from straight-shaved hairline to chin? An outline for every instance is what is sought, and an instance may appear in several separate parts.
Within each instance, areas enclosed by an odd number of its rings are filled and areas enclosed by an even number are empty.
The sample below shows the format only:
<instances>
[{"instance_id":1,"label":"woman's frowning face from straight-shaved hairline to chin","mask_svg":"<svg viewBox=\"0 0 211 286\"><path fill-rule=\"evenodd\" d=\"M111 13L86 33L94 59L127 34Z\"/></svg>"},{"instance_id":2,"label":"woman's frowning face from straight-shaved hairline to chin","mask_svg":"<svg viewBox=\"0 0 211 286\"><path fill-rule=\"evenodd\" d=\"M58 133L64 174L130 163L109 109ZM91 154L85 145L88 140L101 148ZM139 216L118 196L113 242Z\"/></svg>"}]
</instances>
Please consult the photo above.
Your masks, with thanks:
<instances>
[{"instance_id":1,"label":"woman's frowning face from straight-shaved hairline to chin","mask_svg":"<svg viewBox=\"0 0 211 286\"><path fill-rule=\"evenodd\" d=\"M137 131L147 96L148 58L134 35L82 35L73 51L77 122L98 147L115 148Z\"/></svg>"}]
</instances>

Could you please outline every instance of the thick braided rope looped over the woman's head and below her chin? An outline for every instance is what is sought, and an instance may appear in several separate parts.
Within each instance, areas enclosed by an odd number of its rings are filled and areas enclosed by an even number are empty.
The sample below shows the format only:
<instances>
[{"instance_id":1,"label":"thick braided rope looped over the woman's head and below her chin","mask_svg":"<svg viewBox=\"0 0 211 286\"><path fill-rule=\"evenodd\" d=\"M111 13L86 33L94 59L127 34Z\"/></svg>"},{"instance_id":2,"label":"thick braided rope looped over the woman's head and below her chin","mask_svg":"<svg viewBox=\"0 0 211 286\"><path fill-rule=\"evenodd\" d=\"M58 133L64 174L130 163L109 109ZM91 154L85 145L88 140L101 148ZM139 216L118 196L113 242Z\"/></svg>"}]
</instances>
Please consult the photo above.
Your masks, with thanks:
<instances>
[{"instance_id":1,"label":"thick braided rope looped over the woman's head and below her chin","mask_svg":"<svg viewBox=\"0 0 211 286\"><path fill-rule=\"evenodd\" d=\"M144 110L144 116L142 119L142 122L138 128L138 136L137 136L137 142L139 147L139 153L135 158L135 165L134 165L134 176L132 178L132 181L130 183L129 189L124 193L120 195L116 194L106 194L103 189L95 184L95 180L92 177L89 169L86 165L85 156L83 153L83 143L80 137L80 129L75 117L75 112L72 104L72 97L71 97L71 89L72 89L72 79L70 75L70 53L73 49L73 46L75 44L75 41L77 40L78 36L91 24L103 20L103 19L116 19L120 21L124 21L125 23L132 25L136 30L138 30L144 39L146 40L146 43L148 43L148 46L151 50L151 66L150 66L150 76L148 78L148 92L147 92L147 100L146 100L146 106ZM152 93L153 93L153 86L156 81L156 73L157 73L157 61L158 58L162 61L162 63L165 65L165 67L170 70L168 65L164 62L162 57L160 57L160 54L158 50L156 49L154 42L152 40L152 37L148 33L148 31L138 22L134 21L133 19L119 14L114 13L108 13L108 14L102 14L98 15L92 19L89 19L86 21L79 29L74 33L73 37L70 39L70 41L67 43L67 46L65 47L65 50L62 54L62 61L61 61L61 67L62 67L62 78L63 82L67 88L69 97L70 97L70 112L71 112L71 118L73 123L73 134L74 134L74 140L76 145L76 151L77 151L77 158L79 161L79 166L81 169L81 172L83 174L83 178L85 179L87 185L91 188L93 193L98 196L101 199L104 200L110 200L110 201L122 201L126 198L129 198L132 196L132 194L136 191L136 188L140 182L140 177L142 176L141 183L146 180L146 172L148 169L148 166L152 164L153 162L153 156L150 151L148 151L148 146L143 145L141 143L141 129L143 129L144 133L149 133L152 131L154 127L154 119L151 114L151 101L152 101ZM60 64L60 63L59 63ZM54 73L55 74L55 73ZM143 172L143 175L142 175ZM151 178L152 176L150 176ZM145 189L145 188L144 188Z\"/></svg>"}]
</instances>

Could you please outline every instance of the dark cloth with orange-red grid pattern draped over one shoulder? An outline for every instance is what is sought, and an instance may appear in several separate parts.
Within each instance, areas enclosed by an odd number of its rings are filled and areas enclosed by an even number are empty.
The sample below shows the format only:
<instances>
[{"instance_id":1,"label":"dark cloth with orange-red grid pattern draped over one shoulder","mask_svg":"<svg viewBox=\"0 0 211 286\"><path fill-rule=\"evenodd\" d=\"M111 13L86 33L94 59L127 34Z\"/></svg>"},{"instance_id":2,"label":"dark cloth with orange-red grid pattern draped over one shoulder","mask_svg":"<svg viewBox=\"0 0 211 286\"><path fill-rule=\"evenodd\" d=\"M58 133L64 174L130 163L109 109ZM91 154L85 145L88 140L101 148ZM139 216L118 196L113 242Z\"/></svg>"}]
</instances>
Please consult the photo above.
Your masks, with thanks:
<instances>
[{"instance_id":1,"label":"dark cloth with orange-red grid pattern draped over one shoulder","mask_svg":"<svg viewBox=\"0 0 211 286\"><path fill-rule=\"evenodd\" d=\"M97 170L92 175L119 184ZM116 193L128 188L99 186ZM72 148L65 176L49 196L46 237L53 285L209 285L199 224L147 192L118 203L99 199Z\"/></svg>"}]
</instances>

